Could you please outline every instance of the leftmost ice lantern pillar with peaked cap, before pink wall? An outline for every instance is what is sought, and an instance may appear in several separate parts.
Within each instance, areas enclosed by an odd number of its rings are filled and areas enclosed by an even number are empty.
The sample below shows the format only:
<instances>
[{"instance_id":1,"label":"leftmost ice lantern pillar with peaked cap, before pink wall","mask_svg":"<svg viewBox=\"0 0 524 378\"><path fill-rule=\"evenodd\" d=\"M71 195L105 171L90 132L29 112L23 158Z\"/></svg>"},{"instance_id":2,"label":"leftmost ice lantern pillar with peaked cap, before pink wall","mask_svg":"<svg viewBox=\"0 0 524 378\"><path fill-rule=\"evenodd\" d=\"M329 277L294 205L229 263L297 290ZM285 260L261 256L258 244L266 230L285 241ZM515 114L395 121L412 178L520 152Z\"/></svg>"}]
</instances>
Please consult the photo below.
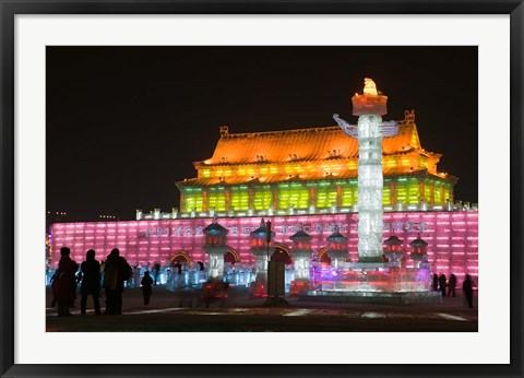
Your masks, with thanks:
<instances>
[{"instance_id":1,"label":"leftmost ice lantern pillar with peaked cap, before pink wall","mask_svg":"<svg viewBox=\"0 0 524 378\"><path fill-rule=\"evenodd\" d=\"M204 228L204 251L207 253L207 280L222 281L224 277L224 255L229 250L226 245L228 231L216 222Z\"/></svg>"}]
</instances>

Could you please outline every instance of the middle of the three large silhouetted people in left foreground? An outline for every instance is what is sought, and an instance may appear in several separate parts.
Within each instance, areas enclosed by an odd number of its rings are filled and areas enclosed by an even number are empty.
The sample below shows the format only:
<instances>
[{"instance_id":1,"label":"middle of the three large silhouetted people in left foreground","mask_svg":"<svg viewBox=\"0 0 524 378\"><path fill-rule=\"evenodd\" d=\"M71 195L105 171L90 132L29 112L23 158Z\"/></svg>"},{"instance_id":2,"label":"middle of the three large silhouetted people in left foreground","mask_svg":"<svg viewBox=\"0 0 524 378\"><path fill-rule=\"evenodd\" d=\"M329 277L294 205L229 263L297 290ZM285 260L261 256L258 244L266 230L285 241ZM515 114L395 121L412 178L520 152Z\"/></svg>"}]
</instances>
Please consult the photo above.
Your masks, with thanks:
<instances>
[{"instance_id":1,"label":"middle of the three large silhouetted people in left foreground","mask_svg":"<svg viewBox=\"0 0 524 378\"><path fill-rule=\"evenodd\" d=\"M100 312L100 263L95 260L95 251L90 249L85 253L85 261L80 264L82 272L82 284L80 285L80 311L85 315L85 306L87 304L87 296L93 296L93 304L95 305L95 314Z\"/></svg>"}]
</instances>

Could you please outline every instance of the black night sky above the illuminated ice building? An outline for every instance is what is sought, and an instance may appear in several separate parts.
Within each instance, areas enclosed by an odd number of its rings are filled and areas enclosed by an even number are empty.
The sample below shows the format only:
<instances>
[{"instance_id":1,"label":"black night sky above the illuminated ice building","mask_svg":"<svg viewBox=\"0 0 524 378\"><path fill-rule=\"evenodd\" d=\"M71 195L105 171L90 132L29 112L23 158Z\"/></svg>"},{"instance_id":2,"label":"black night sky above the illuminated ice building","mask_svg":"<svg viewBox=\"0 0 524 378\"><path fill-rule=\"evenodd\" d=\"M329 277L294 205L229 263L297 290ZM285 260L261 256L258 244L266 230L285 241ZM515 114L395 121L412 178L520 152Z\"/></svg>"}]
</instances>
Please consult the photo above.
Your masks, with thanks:
<instances>
[{"instance_id":1,"label":"black night sky above the illuminated ice building","mask_svg":"<svg viewBox=\"0 0 524 378\"><path fill-rule=\"evenodd\" d=\"M478 201L476 47L48 47L47 209L67 221L179 206L219 127L257 132L356 123L371 78L384 120L415 109L422 147Z\"/></svg>"}]
</instances>

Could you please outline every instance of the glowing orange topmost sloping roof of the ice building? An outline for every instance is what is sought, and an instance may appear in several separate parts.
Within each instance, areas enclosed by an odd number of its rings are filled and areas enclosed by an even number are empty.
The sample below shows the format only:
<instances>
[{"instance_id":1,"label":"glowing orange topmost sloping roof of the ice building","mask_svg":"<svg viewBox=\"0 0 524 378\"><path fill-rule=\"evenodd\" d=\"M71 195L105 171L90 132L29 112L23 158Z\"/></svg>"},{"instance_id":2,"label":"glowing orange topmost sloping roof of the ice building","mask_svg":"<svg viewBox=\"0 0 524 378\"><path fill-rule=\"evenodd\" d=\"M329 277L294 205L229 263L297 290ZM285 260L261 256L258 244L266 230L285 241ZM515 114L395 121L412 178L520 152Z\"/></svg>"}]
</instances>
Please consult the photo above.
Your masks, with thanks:
<instances>
[{"instance_id":1,"label":"glowing orange topmost sloping roof of the ice building","mask_svg":"<svg viewBox=\"0 0 524 378\"><path fill-rule=\"evenodd\" d=\"M383 139L383 154L420 150L415 114L406 111L405 119L397 123L398 134ZM440 157L430 152L425 154ZM314 162L357 157L357 140L346 135L337 126L237 134L229 133L227 127L223 127L213 156L203 162L195 162L194 165L196 168L204 168L213 165Z\"/></svg>"}]
</instances>

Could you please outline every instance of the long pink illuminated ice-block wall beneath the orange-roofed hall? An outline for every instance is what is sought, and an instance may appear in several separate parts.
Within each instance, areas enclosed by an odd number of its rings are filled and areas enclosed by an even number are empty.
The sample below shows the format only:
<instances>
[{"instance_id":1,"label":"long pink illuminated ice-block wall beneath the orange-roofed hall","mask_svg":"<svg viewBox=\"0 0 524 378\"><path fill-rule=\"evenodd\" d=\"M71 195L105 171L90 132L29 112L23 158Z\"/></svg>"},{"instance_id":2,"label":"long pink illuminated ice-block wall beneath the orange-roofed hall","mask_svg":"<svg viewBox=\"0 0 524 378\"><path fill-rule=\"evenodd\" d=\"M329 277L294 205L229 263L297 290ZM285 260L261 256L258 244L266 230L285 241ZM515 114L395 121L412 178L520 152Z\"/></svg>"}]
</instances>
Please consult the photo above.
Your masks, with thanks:
<instances>
[{"instance_id":1,"label":"long pink illuminated ice-block wall beneath the orange-roofed hall","mask_svg":"<svg viewBox=\"0 0 524 378\"><path fill-rule=\"evenodd\" d=\"M357 214L322 214L272 216L275 240L290 248L289 236L299 229L313 239L314 251L327 245L335 226L348 237L348 250L353 261L358 260ZM203 249L203 229L211 218L180 218L163 221L57 223L52 226L52 265L58 264L60 247L71 248L72 258L84 260L87 249L94 249L98 260L117 247L131 264L145 265L156 261L167 263L169 258L186 251L193 261L206 261ZM229 231L227 244L234 248L242 263L254 263L249 251L249 233L260 226L260 217L218 218L218 223ZM478 271L478 213L477 212L403 212L384 214L384 239L396 235L404 241L407 267L413 267L409 258L409 241L421 238L428 243L428 257L431 270L454 273L458 282L465 273L477 277Z\"/></svg>"}]
</instances>

